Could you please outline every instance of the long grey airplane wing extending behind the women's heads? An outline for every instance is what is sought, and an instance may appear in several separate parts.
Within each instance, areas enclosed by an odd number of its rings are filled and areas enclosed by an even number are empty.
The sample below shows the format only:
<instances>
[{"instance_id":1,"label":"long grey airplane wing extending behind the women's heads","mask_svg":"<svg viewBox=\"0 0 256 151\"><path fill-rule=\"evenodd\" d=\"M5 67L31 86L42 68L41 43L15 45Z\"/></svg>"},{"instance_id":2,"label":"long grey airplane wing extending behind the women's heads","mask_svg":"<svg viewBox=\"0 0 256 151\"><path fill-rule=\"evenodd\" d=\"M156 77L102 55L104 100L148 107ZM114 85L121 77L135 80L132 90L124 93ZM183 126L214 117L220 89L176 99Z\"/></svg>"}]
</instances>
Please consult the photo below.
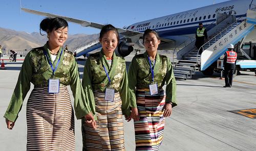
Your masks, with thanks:
<instances>
[{"instance_id":1,"label":"long grey airplane wing extending behind the women's heads","mask_svg":"<svg viewBox=\"0 0 256 151\"><path fill-rule=\"evenodd\" d=\"M104 26L104 24L100 24L100 23L96 23L96 22L90 22L90 21L86 21L86 20L80 20L80 19L75 19L75 18L71 18L71 17L60 16L60 15L55 15L55 14L50 14L50 13L45 13L45 12L40 12L40 11L35 11L35 10L27 9L27 8L22 8L22 10L25 11L25 12L28 12L28 13L41 15L41 16L46 16L46 17L63 18L65 20L69 21L69 22L80 24L82 27L92 27L92 28L96 28L96 29L101 29ZM122 34L122 35L127 36L127 37L142 36L143 35L143 33L135 32L135 31L131 31L131 30L126 30L126 29L121 29L121 28L116 28L116 29L117 29L119 34Z\"/></svg>"}]
</instances>

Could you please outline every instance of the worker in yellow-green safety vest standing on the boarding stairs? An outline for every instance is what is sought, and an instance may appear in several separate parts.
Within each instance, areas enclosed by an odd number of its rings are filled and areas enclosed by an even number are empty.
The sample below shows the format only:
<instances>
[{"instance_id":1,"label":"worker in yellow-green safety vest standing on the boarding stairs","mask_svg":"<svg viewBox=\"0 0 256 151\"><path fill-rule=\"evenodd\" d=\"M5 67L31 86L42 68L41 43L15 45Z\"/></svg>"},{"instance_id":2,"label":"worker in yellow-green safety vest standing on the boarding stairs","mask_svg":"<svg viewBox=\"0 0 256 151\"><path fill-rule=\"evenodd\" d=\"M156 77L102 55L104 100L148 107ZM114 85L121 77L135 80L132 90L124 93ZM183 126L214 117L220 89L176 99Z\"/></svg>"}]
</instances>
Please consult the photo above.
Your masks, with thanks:
<instances>
[{"instance_id":1,"label":"worker in yellow-green safety vest standing on the boarding stairs","mask_svg":"<svg viewBox=\"0 0 256 151\"><path fill-rule=\"evenodd\" d=\"M203 44L204 44L204 40L207 39L207 30L206 28L203 27L203 23L200 22L199 23L199 28L197 29L197 33L196 33L196 47L199 49ZM203 49L201 48L199 50L199 54L201 55L203 52Z\"/></svg>"}]
</instances>

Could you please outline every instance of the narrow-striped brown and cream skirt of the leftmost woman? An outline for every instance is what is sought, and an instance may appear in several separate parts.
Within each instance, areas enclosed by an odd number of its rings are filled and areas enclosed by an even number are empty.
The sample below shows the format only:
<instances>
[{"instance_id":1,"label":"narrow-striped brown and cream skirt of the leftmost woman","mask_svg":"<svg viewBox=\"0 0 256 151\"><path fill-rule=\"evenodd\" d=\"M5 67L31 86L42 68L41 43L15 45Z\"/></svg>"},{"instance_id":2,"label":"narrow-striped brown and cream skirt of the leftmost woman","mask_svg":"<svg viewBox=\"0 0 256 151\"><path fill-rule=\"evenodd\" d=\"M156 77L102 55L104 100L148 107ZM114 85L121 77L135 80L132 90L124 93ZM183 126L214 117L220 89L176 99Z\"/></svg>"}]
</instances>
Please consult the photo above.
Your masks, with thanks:
<instances>
[{"instance_id":1,"label":"narrow-striped brown and cream skirt of the leftmost woman","mask_svg":"<svg viewBox=\"0 0 256 151\"><path fill-rule=\"evenodd\" d=\"M27 150L75 150L74 111L67 87L34 88L27 103Z\"/></svg>"}]
</instances>

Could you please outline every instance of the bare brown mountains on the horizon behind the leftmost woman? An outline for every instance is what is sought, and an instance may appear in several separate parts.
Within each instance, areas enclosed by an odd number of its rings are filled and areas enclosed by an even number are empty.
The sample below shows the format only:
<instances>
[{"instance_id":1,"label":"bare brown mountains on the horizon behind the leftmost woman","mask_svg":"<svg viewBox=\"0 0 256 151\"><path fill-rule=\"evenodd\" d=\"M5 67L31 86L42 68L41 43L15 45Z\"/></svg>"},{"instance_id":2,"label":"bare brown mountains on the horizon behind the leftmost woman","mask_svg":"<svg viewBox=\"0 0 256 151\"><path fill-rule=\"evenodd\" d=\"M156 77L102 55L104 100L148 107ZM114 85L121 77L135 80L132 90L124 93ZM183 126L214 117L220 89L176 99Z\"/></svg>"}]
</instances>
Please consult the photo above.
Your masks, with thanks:
<instances>
[{"instance_id":1,"label":"bare brown mountains on the horizon behind the leftmost woman","mask_svg":"<svg viewBox=\"0 0 256 151\"><path fill-rule=\"evenodd\" d=\"M69 35L64 45L67 44L69 51L73 51L75 47L97 39L98 37L99 34ZM47 40L46 35L41 36L38 32L26 33L0 27L0 45L2 45L2 49L13 49L16 51L23 51L24 49L30 50L31 48L44 45Z\"/></svg>"}]
</instances>

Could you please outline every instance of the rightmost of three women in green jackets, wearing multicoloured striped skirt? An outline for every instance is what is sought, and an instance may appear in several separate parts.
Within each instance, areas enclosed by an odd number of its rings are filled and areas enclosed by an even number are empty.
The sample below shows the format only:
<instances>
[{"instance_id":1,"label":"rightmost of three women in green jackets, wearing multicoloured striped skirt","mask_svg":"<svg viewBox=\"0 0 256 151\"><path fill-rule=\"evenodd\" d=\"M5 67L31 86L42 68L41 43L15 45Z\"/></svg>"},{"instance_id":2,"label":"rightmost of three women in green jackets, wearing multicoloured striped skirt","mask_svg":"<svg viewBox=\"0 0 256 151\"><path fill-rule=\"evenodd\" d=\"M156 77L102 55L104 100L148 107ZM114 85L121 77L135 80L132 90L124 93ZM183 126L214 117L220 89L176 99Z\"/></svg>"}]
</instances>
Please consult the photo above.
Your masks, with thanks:
<instances>
[{"instance_id":1,"label":"rightmost of three women in green jackets, wearing multicoloured striped skirt","mask_svg":"<svg viewBox=\"0 0 256 151\"><path fill-rule=\"evenodd\" d=\"M177 105L176 81L169 59L157 53L158 34L146 30L143 43L146 52L133 58L128 72L136 150L158 150L165 117ZM162 88L165 82L166 95Z\"/></svg>"}]
</instances>

